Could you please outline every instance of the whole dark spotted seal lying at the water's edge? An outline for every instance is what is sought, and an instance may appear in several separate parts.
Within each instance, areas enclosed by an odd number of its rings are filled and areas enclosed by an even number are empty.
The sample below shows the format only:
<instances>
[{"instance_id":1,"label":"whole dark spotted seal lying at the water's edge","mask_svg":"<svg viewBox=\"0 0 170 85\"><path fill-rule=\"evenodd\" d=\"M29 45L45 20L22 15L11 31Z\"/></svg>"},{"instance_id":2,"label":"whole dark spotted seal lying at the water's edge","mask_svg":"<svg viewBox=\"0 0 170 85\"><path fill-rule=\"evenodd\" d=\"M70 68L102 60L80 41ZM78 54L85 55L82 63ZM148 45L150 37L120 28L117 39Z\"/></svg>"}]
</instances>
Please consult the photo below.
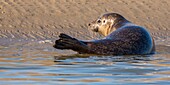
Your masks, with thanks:
<instances>
[{"instance_id":1,"label":"whole dark spotted seal lying at the water's edge","mask_svg":"<svg viewBox=\"0 0 170 85\"><path fill-rule=\"evenodd\" d=\"M120 14L103 14L91 22L89 28L105 38L82 41L61 33L54 48L99 55L145 55L155 52L154 40L146 28L128 21Z\"/></svg>"}]
</instances>

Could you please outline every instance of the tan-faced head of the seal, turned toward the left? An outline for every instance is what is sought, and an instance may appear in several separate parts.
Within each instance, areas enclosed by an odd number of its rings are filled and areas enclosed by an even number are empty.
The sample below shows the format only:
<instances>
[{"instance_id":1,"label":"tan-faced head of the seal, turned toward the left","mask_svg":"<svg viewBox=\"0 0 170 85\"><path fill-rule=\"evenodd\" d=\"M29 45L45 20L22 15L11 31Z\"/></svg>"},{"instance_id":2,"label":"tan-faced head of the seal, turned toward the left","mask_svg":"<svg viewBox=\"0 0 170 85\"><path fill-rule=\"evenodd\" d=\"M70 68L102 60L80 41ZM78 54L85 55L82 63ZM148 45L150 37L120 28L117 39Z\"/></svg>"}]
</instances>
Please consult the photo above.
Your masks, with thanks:
<instances>
[{"instance_id":1,"label":"tan-faced head of the seal, turned toward the left","mask_svg":"<svg viewBox=\"0 0 170 85\"><path fill-rule=\"evenodd\" d=\"M120 22L126 19L117 13L106 13L100 16L97 20L89 23L89 27L94 32L99 32L100 34L107 36L111 32L115 31Z\"/></svg>"}]
</instances>

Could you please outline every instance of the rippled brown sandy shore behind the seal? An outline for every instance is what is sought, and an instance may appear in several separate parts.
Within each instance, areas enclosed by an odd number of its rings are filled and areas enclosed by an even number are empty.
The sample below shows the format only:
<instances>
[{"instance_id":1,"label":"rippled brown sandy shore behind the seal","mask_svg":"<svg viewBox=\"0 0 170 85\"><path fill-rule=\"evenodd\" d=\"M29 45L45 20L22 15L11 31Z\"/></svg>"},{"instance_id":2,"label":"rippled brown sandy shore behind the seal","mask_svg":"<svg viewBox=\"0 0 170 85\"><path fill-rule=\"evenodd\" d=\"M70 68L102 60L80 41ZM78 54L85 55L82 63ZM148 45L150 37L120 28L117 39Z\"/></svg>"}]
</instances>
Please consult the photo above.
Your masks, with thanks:
<instances>
[{"instance_id":1,"label":"rippled brown sandy shore behind the seal","mask_svg":"<svg viewBox=\"0 0 170 85\"><path fill-rule=\"evenodd\" d=\"M64 32L90 39L87 24L117 12L148 28L154 38L170 36L169 0L1 0L0 38L56 38Z\"/></svg>"}]
</instances>

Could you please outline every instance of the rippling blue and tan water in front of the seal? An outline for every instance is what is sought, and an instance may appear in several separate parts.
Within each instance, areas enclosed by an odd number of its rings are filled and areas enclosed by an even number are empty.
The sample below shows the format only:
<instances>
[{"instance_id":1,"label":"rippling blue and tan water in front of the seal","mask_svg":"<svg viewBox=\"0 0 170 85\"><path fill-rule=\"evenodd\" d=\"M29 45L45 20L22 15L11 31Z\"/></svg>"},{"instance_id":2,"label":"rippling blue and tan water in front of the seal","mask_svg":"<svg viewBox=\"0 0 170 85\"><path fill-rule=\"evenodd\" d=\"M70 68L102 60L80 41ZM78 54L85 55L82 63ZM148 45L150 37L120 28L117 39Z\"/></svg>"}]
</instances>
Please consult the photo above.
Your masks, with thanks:
<instances>
[{"instance_id":1,"label":"rippling blue and tan water in front of the seal","mask_svg":"<svg viewBox=\"0 0 170 85\"><path fill-rule=\"evenodd\" d=\"M48 40L1 44L1 85L170 84L169 45L154 55L95 56L56 50Z\"/></svg>"}]
</instances>

